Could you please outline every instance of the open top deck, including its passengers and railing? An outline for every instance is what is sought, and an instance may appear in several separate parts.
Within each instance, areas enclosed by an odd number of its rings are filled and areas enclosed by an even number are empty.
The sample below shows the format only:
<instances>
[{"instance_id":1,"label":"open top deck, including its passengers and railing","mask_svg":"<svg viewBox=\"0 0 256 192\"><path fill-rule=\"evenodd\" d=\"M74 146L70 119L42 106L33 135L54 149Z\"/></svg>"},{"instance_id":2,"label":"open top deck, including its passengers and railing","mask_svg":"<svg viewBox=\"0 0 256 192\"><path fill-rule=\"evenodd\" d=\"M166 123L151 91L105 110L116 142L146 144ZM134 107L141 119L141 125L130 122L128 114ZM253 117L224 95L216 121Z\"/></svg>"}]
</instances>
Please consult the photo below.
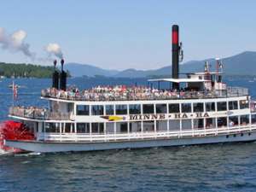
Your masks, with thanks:
<instances>
[{"instance_id":1,"label":"open top deck, including its passengers and railing","mask_svg":"<svg viewBox=\"0 0 256 192\"><path fill-rule=\"evenodd\" d=\"M42 90L41 96L44 98L54 98L67 101L89 101L89 102L109 102L109 101L152 101L152 100L177 100L177 99L204 99L223 98L234 96L249 96L247 88L227 87L226 90L158 90L148 87L102 87L98 86L89 90L56 90L49 88Z\"/></svg>"}]
</instances>

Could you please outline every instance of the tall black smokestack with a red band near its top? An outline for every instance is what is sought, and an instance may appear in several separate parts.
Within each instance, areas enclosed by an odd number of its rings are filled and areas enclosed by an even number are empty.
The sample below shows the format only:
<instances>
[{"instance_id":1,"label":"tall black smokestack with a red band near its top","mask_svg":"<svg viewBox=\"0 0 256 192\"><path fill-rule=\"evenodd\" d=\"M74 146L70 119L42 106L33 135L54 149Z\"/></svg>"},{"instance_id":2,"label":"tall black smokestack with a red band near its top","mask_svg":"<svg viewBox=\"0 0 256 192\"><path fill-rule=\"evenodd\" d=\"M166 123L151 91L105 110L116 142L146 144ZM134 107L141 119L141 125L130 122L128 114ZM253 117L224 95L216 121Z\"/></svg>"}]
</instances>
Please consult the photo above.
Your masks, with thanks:
<instances>
[{"instance_id":1,"label":"tall black smokestack with a red band near its top","mask_svg":"<svg viewBox=\"0 0 256 192\"><path fill-rule=\"evenodd\" d=\"M178 41L178 26L172 26L172 78L178 79L178 55L179 55L179 41ZM172 83L172 89L179 89L178 83Z\"/></svg>"}]
</instances>

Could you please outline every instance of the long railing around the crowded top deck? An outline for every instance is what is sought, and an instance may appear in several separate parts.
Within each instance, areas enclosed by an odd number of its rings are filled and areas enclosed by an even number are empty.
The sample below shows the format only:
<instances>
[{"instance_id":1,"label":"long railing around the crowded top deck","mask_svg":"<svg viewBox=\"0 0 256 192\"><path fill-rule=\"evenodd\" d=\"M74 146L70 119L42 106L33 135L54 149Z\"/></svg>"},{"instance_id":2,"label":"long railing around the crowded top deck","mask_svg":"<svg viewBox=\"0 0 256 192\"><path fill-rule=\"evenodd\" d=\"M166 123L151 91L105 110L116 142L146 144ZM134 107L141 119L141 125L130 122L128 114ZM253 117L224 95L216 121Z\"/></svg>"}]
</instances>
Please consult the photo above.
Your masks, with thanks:
<instances>
[{"instance_id":1,"label":"long railing around the crowded top deck","mask_svg":"<svg viewBox=\"0 0 256 192\"><path fill-rule=\"evenodd\" d=\"M206 91L171 91L154 90L137 92L136 90L120 92L73 92L55 89L42 90L41 96L71 101L136 101L136 100L170 100L170 99L202 99L228 96L248 96L247 88L228 87L227 90Z\"/></svg>"}]
</instances>

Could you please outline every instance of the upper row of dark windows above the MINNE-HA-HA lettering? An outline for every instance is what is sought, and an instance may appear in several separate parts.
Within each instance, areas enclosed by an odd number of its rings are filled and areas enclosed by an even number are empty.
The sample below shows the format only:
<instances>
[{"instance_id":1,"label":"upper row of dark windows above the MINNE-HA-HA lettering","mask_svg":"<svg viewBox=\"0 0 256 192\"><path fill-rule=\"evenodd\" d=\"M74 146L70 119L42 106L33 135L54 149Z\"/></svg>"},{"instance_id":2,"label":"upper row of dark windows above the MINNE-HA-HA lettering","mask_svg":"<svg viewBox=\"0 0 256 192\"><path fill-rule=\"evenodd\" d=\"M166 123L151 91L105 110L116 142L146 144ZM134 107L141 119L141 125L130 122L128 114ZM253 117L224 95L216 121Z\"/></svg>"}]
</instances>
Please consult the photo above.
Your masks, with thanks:
<instances>
[{"instance_id":1,"label":"upper row of dark windows above the MINNE-HA-HA lettering","mask_svg":"<svg viewBox=\"0 0 256 192\"><path fill-rule=\"evenodd\" d=\"M227 105L228 104L228 105ZM169 113L192 113L192 112L215 112L217 111L227 111L236 110L240 106L240 109L248 108L247 101L240 101L239 105L237 101L231 102L206 102L205 106L203 102L195 102L195 103L172 103L168 104ZM193 109L193 111L192 111ZM133 105L115 105L115 114L124 115L127 114L129 110L130 114L140 114L142 113L154 113L154 104L143 104L143 108L141 108L140 104ZM105 106L105 114L112 115L114 114L113 105ZM167 105L166 104L155 104L155 113L167 113ZM89 105L78 105L77 106L77 114L78 115L103 115L104 114L104 106L103 105L92 105L91 109Z\"/></svg>"}]
</instances>

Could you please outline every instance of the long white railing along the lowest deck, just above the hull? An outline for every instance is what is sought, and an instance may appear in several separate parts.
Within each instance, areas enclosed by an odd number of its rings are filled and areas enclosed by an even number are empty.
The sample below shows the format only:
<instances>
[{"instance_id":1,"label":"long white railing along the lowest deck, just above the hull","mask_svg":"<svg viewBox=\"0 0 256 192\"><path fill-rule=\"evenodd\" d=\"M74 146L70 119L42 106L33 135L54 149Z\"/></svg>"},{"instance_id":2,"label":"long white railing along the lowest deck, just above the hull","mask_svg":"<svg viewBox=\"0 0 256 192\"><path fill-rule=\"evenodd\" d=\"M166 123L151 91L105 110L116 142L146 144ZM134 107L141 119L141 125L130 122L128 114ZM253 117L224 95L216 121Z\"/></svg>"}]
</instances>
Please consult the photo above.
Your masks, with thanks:
<instances>
[{"instance_id":1,"label":"long white railing along the lowest deck, just above the hull","mask_svg":"<svg viewBox=\"0 0 256 192\"><path fill-rule=\"evenodd\" d=\"M244 125L214 129L189 130L189 131L149 131L118 134L84 134L84 133L38 133L38 140L58 142L109 142L129 141L139 139L160 139L180 137L205 137L239 133L242 131L256 131L256 125Z\"/></svg>"}]
</instances>

